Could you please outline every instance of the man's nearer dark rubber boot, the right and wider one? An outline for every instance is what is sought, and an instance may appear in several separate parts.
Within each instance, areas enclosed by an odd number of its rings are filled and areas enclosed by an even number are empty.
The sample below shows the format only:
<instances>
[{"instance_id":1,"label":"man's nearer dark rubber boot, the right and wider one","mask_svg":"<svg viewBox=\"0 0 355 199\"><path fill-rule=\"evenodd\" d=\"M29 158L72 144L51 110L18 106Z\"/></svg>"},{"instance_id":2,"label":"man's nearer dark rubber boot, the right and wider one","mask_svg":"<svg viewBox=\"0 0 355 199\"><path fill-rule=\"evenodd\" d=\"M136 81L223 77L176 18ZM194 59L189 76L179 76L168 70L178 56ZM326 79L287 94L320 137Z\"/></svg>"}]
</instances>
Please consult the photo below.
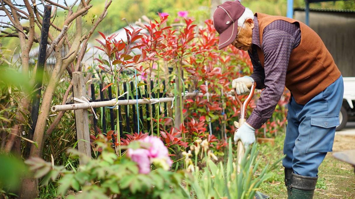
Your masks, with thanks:
<instances>
[{"instance_id":1,"label":"man's nearer dark rubber boot, the right and wider one","mask_svg":"<svg viewBox=\"0 0 355 199\"><path fill-rule=\"evenodd\" d=\"M288 199L312 199L318 177L307 177L292 173Z\"/></svg>"}]
</instances>

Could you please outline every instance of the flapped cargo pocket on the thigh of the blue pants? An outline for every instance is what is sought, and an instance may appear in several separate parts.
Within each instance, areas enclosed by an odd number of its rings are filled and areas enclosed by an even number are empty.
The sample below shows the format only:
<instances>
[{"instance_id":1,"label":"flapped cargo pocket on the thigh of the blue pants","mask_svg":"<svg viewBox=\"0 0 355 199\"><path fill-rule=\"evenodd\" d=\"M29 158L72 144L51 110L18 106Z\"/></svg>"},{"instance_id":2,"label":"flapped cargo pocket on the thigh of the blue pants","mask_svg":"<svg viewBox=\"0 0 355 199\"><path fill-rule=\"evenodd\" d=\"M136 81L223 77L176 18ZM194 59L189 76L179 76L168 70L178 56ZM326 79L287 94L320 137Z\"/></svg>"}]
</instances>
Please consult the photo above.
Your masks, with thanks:
<instances>
[{"instance_id":1,"label":"flapped cargo pocket on the thigh of the blue pants","mask_svg":"<svg viewBox=\"0 0 355 199\"><path fill-rule=\"evenodd\" d=\"M339 116L311 117L311 131L306 153L331 152L335 127L339 125Z\"/></svg>"}]
</instances>

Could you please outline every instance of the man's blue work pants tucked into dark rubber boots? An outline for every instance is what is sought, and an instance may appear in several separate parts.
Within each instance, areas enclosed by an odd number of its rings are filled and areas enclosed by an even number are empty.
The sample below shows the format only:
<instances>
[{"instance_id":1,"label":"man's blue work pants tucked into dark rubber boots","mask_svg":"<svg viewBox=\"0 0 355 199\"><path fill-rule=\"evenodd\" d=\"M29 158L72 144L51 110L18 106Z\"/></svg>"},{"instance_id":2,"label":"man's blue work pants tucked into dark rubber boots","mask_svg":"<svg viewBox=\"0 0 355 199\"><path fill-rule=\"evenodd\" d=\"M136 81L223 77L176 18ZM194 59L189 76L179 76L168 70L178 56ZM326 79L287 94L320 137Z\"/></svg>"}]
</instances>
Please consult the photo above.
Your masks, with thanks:
<instances>
[{"instance_id":1,"label":"man's blue work pants tucked into dark rubber boots","mask_svg":"<svg viewBox=\"0 0 355 199\"><path fill-rule=\"evenodd\" d=\"M305 105L297 104L291 96L284 142L286 157L282 161L285 168L292 168L298 175L317 176L319 165L333 148L343 93L340 76Z\"/></svg>"}]
</instances>

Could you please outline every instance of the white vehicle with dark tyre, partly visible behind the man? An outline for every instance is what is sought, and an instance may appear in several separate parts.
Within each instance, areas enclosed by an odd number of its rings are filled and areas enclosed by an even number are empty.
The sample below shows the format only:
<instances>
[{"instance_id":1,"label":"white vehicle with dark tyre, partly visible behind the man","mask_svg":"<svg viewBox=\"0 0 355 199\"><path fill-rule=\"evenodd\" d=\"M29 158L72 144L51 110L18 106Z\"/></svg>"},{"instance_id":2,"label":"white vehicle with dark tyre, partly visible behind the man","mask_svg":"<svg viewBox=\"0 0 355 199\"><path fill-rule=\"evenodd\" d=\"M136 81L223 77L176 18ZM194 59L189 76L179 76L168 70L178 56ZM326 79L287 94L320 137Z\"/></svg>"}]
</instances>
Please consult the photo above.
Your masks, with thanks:
<instances>
[{"instance_id":1,"label":"white vehicle with dark tyre, partly visible behind the man","mask_svg":"<svg viewBox=\"0 0 355 199\"><path fill-rule=\"evenodd\" d=\"M337 131L342 130L346 122L355 121L355 77L345 77L344 80L344 96L342 109L339 113L339 126Z\"/></svg>"}]
</instances>

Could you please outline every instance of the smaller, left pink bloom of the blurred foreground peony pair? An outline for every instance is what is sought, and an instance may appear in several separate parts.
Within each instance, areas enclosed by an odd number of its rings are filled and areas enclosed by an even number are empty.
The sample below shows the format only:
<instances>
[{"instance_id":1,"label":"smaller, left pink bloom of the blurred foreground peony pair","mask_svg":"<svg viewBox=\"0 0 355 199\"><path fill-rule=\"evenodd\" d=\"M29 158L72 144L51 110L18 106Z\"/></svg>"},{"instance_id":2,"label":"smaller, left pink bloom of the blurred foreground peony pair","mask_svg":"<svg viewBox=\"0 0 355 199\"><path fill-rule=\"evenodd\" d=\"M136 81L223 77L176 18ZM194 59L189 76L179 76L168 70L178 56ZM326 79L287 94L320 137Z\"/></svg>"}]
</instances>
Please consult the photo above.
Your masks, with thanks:
<instances>
[{"instance_id":1,"label":"smaller, left pink bloom of the blurred foreground peony pair","mask_svg":"<svg viewBox=\"0 0 355 199\"><path fill-rule=\"evenodd\" d=\"M131 149L127 150L128 157L135 161L141 174L149 174L151 171L151 162L149 160L149 151L147 149Z\"/></svg>"}]
</instances>

